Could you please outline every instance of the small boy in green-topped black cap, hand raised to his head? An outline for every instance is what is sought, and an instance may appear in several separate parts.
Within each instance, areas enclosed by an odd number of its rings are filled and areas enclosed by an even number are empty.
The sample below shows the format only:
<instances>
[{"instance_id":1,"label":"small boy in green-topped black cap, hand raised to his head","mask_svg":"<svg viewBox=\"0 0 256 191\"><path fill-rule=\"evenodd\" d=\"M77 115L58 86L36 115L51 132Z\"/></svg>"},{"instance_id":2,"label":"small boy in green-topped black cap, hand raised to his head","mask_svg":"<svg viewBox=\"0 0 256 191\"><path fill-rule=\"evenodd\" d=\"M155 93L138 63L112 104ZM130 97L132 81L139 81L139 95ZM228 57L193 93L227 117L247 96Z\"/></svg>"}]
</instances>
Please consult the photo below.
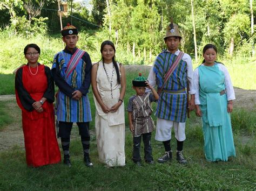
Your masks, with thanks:
<instances>
[{"instance_id":1,"label":"small boy in green-topped black cap, hand raised to his head","mask_svg":"<svg viewBox=\"0 0 256 191\"><path fill-rule=\"evenodd\" d=\"M146 87L151 89L152 93L145 93ZM127 111L129 112L130 130L133 133L133 156L132 160L138 166L142 165L140 158L140 143L143 138L144 159L148 164L154 164L151 148L151 132L154 130L154 122L150 115L152 114L151 102L157 101L159 96L157 91L152 88L146 78L140 73L132 81L132 88L136 95L130 97Z\"/></svg>"}]
</instances>

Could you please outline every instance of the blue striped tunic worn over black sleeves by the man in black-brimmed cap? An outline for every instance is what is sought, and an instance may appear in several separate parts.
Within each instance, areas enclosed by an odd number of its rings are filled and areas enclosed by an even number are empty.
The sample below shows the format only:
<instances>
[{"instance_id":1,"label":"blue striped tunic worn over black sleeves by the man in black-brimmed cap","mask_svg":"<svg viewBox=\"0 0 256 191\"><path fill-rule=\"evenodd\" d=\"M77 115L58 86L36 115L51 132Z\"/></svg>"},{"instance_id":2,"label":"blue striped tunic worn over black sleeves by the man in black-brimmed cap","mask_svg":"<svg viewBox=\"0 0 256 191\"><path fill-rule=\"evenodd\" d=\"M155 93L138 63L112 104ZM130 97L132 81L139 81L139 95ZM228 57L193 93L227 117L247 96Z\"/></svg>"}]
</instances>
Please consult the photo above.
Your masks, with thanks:
<instances>
[{"instance_id":1,"label":"blue striped tunic worn over black sleeves by the man in black-brimmed cap","mask_svg":"<svg viewBox=\"0 0 256 191\"><path fill-rule=\"evenodd\" d=\"M65 71L67 69L69 60L72 55L65 53L64 51L58 53L58 63L60 75L65 79ZM52 68L55 68L56 57L53 60ZM66 79L66 82L75 90L79 89L84 81L86 63L80 59L76 68L71 72L71 74ZM58 91L58 97L56 101L56 115L58 121L62 122L90 122L91 109L88 96L82 96L80 100L73 100L69 96L66 96L62 91Z\"/></svg>"}]
</instances>

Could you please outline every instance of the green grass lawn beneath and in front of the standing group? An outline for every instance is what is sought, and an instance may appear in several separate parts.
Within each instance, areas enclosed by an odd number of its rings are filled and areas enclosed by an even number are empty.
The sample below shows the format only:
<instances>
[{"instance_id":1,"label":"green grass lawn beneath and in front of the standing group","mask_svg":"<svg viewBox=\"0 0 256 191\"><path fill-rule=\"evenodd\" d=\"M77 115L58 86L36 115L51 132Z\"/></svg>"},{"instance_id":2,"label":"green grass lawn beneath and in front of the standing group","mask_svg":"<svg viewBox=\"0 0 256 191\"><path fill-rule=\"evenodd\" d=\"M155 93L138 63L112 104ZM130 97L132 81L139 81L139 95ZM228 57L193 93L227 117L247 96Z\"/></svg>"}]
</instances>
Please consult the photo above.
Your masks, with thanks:
<instances>
[{"instance_id":1,"label":"green grass lawn beneath and in front of the standing group","mask_svg":"<svg viewBox=\"0 0 256 191\"><path fill-rule=\"evenodd\" d=\"M138 68L139 70L139 68ZM127 72L127 91L125 105L129 97L134 94L131 80L137 72ZM2 87L2 85L1 85ZM95 107L92 93L89 94L93 121L90 127L94 129ZM15 102L15 101L13 101ZM7 101L0 101L1 108L7 108ZM155 104L153 105L156 106ZM12 112L17 112L14 107ZM10 118L9 112L0 110L4 118ZM228 162L206 162L203 152L203 132L200 118L191 114L186 124L186 141L184 142L184 155L187 165L176 162L176 141L172 139L171 147L173 161L167 164L147 165L137 167L132 158L132 135L126 114L126 166L107 168L100 164L96 147L96 137L91 135L91 159L93 168L87 168L83 163L83 149L80 143L77 128L73 128L70 147L72 167L63 164L48 165L39 168L26 166L25 151L20 145L0 152L0 190L174 190L174 189L256 189L256 139L255 139L256 110L247 112L235 108L232 113L234 128L234 142L237 151L236 158ZM156 119L153 117L153 119ZM247 119L250 119L248 123ZM0 118L1 120L1 118ZM1 122L1 121L0 121ZM1 124L1 123L0 123ZM10 122L3 123L4 126ZM11 122L12 124L12 122ZM246 126L246 125L247 126ZM21 125L20 125L21 126ZM0 137L1 137L0 131ZM163 153L163 144L154 140L152 136L153 158L157 160ZM172 135L174 137L174 135ZM143 147L142 147L142 157ZM62 154L63 155L63 154Z\"/></svg>"}]
</instances>

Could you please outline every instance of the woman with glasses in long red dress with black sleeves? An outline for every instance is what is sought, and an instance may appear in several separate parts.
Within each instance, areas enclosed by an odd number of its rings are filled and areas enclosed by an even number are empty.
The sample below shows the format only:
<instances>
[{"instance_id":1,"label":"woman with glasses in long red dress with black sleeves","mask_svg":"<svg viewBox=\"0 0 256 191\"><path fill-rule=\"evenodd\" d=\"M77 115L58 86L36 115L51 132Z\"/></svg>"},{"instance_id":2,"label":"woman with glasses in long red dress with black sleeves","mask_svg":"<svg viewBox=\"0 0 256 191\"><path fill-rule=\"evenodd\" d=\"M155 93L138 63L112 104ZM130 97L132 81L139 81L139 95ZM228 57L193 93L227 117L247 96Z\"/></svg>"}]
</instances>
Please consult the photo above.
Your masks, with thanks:
<instances>
[{"instance_id":1,"label":"woman with glasses in long red dress with black sleeves","mask_svg":"<svg viewBox=\"0 0 256 191\"><path fill-rule=\"evenodd\" d=\"M38 63L40 48L24 48L27 65L17 70L16 100L22 110L22 128L28 166L39 167L60 162L53 110L54 84L50 68Z\"/></svg>"}]
</instances>

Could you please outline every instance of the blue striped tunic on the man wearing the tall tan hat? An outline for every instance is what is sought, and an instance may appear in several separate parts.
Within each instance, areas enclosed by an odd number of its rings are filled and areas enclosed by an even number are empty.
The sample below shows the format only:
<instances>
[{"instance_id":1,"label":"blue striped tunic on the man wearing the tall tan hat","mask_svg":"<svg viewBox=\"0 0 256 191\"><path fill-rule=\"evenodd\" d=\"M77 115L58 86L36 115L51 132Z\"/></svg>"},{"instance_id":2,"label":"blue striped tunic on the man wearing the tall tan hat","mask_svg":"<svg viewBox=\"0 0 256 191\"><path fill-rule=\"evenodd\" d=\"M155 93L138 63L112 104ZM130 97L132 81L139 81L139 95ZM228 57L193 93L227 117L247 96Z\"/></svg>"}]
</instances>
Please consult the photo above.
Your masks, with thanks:
<instances>
[{"instance_id":1,"label":"blue striped tunic on the man wearing the tall tan hat","mask_svg":"<svg viewBox=\"0 0 256 191\"><path fill-rule=\"evenodd\" d=\"M164 76L172 66L177 55L170 52L161 52L154 63L153 71L156 73L157 86L163 86ZM165 92L162 91L157 103L156 116L161 119L166 119L175 122L186 122L186 91L180 92L181 89L187 86L187 65L181 60L179 65L174 70L169 81L164 85ZM174 91L174 93L168 93ZM177 94L175 94L177 91Z\"/></svg>"}]
</instances>

